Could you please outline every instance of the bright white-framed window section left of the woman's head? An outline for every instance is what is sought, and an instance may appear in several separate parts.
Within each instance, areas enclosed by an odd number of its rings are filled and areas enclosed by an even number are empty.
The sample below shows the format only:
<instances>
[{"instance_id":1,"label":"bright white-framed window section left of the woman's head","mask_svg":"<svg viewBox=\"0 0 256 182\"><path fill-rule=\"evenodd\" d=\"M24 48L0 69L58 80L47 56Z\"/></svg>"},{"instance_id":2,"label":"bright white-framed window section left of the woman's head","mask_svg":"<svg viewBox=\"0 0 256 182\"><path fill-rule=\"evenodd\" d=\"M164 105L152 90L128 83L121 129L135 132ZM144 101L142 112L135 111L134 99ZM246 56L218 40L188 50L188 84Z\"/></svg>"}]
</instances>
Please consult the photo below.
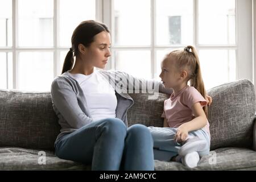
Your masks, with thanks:
<instances>
[{"instance_id":1,"label":"bright white-framed window section left of the woman's head","mask_svg":"<svg viewBox=\"0 0 256 182\"><path fill-rule=\"evenodd\" d=\"M0 88L49 91L86 19L96 19L96 0L2 0Z\"/></svg>"}]
</instances>

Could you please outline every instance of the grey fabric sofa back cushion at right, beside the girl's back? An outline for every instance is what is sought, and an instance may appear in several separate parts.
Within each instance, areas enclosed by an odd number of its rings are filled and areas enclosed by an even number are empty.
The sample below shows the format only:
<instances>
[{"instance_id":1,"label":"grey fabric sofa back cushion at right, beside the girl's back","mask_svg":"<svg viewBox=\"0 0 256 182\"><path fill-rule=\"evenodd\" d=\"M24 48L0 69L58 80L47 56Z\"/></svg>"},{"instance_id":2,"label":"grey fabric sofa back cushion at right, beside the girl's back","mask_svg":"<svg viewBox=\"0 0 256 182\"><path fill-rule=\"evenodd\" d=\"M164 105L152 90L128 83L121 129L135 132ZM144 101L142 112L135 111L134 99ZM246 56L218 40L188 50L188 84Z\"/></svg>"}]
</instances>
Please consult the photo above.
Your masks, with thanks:
<instances>
[{"instance_id":1,"label":"grey fabric sofa back cushion at right, beside the girl's back","mask_svg":"<svg viewBox=\"0 0 256 182\"><path fill-rule=\"evenodd\" d=\"M255 114L254 85L238 80L208 90L213 102L209 107L210 149L253 146Z\"/></svg>"}]
</instances>

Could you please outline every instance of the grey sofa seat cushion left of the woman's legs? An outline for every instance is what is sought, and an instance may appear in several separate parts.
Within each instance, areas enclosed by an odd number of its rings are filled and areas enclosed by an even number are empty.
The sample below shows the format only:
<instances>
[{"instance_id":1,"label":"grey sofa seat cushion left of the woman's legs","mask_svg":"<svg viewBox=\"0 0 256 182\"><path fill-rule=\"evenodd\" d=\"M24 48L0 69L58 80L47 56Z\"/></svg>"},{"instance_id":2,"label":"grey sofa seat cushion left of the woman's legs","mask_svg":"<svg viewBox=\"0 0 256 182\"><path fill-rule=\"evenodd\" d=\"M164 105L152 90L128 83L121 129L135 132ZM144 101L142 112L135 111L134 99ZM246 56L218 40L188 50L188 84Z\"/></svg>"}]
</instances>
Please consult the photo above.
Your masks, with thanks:
<instances>
[{"instance_id":1,"label":"grey sofa seat cushion left of the woman's legs","mask_svg":"<svg viewBox=\"0 0 256 182\"><path fill-rule=\"evenodd\" d=\"M52 151L46 152L46 164L39 164L42 159L40 150L16 147L0 147L0 170L90 170L90 166L71 160L57 158ZM43 162L43 160L40 160Z\"/></svg>"}]
</instances>

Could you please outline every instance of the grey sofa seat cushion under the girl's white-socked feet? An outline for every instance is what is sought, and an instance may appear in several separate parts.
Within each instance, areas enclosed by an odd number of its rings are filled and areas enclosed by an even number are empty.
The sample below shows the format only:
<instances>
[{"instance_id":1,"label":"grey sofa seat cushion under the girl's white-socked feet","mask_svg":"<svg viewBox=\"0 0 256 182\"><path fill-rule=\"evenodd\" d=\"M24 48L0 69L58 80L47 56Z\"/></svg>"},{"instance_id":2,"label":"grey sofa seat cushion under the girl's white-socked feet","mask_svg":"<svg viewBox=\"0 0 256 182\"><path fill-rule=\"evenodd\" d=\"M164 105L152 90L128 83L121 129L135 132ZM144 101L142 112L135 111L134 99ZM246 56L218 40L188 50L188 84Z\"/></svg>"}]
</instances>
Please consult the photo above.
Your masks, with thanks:
<instances>
[{"instance_id":1,"label":"grey sofa seat cushion under the girl's white-socked feet","mask_svg":"<svg viewBox=\"0 0 256 182\"><path fill-rule=\"evenodd\" d=\"M195 168L185 167L178 162L155 160L155 170L256 170L256 152L238 147L218 148L210 151L210 155L203 156Z\"/></svg>"}]
</instances>

